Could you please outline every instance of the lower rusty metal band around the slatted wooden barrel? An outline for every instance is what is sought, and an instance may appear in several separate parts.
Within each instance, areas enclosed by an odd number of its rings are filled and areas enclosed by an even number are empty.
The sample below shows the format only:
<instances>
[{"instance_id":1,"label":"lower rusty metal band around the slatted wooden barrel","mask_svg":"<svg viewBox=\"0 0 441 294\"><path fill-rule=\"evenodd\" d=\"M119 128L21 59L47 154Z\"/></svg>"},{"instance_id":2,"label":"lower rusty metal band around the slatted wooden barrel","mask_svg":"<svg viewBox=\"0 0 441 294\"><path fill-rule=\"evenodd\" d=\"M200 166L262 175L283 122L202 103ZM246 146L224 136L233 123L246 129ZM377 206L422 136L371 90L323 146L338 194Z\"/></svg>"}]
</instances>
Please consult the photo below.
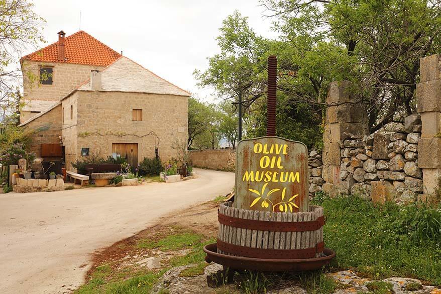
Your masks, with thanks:
<instances>
[{"instance_id":1,"label":"lower rusty metal band around the slatted wooden barrel","mask_svg":"<svg viewBox=\"0 0 441 294\"><path fill-rule=\"evenodd\" d=\"M226 253L243 257L266 259L302 259L314 258L315 254L323 251L324 243L320 242L317 243L315 247L306 249L263 249L234 245L217 239L217 248Z\"/></svg>"}]
</instances>

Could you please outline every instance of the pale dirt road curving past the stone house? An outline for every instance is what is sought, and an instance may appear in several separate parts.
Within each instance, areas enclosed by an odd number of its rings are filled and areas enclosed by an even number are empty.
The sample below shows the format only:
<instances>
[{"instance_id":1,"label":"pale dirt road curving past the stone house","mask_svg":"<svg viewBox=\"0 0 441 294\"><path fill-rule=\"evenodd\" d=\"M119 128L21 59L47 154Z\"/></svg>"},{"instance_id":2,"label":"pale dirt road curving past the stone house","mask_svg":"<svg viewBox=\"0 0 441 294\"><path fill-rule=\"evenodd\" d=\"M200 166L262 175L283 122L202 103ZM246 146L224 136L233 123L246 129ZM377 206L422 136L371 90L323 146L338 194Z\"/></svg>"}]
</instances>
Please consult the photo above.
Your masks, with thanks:
<instances>
[{"instance_id":1,"label":"pale dirt road curving past the stone house","mask_svg":"<svg viewBox=\"0 0 441 294\"><path fill-rule=\"evenodd\" d=\"M234 185L234 173L196 171L198 178L173 184L0 195L0 292L75 288L91 253Z\"/></svg>"}]
</instances>

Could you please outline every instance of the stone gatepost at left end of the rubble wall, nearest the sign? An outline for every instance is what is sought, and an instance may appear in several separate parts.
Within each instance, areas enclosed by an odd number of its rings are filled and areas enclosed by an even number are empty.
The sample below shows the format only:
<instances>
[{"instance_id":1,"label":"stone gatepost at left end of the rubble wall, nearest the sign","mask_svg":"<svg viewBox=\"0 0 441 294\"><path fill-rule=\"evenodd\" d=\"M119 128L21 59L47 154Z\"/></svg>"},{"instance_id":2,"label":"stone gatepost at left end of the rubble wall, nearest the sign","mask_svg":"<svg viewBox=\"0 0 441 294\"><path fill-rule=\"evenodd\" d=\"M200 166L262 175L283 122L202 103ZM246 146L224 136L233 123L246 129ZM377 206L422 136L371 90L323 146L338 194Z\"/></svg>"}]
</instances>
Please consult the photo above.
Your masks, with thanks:
<instances>
[{"instance_id":1,"label":"stone gatepost at left end of the rubble wall, nearest the sign","mask_svg":"<svg viewBox=\"0 0 441 294\"><path fill-rule=\"evenodd\" d=\"M349 193L353 181L341 181L341 147L347 134L369 134L364 104L357 103L349 81L332 82L326 97L326 118L323 131L323 191L331 196Z\"/></svg>"}]
</instances>

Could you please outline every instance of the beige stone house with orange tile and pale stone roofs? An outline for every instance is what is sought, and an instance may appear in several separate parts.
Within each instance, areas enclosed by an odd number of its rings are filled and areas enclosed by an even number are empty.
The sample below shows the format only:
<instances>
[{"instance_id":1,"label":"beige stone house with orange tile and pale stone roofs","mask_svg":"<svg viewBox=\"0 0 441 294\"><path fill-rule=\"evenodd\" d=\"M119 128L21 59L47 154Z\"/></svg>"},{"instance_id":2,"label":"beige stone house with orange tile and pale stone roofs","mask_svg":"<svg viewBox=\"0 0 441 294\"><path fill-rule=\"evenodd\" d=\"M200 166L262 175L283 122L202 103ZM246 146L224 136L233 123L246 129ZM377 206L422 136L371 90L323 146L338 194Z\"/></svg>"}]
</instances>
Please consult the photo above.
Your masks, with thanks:
<instances>
[{"instance_id":1,"label":"beige stone house with orange tile and pale stone roofs","mask_svg":"<svg viewBox=\"0 0 441 294\"><path fill-rule=\"evenodd\" d=\"M36 130L37 156L61 158L67 170L90 156L119 155L132 165L174 156L172 145L186 142L190 94L83 31L58 35L21 59L21 126Z\"/></svg>"}]
</instances>

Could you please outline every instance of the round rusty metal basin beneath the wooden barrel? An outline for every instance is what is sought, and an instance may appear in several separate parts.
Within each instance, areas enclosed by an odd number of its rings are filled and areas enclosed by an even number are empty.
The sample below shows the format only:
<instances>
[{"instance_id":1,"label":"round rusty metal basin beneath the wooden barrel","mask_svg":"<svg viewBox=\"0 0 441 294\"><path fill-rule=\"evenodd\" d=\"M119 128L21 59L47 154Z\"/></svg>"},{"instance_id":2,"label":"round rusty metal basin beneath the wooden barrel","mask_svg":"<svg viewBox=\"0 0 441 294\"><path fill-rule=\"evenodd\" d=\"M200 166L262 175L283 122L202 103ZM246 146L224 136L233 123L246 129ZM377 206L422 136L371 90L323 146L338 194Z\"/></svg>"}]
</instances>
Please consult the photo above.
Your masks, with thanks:
<instances>
[{"instance_id":1,"label":"round rusty metal basin beneath the wooden barrel","mask_svg":"<svg viewBox=\"0 0 441 294\"><path fill-rule=\"evenodd\" d=\"M323 254L325 256L323 257L304 259L264 259L225 255L217 253L216 243L206 245L203 251L207 254L205 261L208 263L215 262L222 264L224 267L237 270L249 269L257 271L316 270L328 264L331 259L336 257L336 253L328 248L324 248Z\"/></svg>"}]
</instances>

